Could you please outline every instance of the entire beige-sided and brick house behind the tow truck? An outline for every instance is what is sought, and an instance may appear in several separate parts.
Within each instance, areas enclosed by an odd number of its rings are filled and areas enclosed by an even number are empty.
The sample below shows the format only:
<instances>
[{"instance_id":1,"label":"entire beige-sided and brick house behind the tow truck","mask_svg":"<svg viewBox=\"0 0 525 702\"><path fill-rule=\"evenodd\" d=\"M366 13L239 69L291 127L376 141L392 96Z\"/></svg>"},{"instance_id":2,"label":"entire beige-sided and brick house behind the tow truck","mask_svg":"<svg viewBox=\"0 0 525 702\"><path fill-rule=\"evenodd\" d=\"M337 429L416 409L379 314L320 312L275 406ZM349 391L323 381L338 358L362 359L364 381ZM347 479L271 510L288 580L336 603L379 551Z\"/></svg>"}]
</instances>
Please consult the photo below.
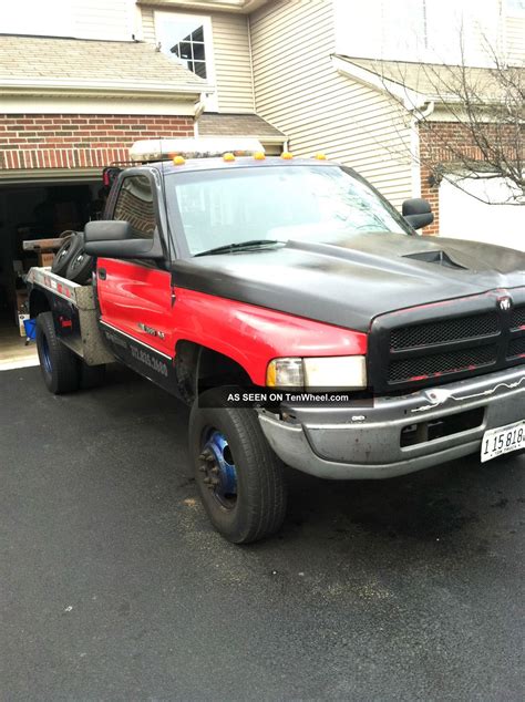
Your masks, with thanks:
<instances>
[{"instance_id":1,"label":"entire beige-sided and brick house behind the tow truck","mask_svg":"<svg viewBox=\"0 0 525 702\"><path fill-rule=\"evenodd\" d=\"M419 70L486 71L487 38L523 62L523 0L19 0L0 14L0 304L13 259L30 262L20 241L100 216L101 168L151 136L323 151L397 207L426 197L426 234L523 229L521 208L465 195L478 182L435 177L457 130Z\"/></svg>"}]
</instances>

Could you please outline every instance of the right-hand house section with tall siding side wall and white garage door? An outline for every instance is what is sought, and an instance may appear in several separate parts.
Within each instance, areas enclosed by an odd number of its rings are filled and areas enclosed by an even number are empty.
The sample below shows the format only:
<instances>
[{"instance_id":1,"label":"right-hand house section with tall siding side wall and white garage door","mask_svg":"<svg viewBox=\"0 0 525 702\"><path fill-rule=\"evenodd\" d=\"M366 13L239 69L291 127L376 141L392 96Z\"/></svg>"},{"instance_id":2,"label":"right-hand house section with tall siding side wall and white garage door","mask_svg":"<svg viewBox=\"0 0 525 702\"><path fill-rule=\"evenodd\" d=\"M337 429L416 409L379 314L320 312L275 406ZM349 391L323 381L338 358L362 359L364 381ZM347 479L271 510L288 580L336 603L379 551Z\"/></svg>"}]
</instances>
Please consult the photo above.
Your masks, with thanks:
<instances>
[{"instance_id":1,"label":"right-hand house section with tall siding side wall and white garage door","mask_svg":"<svg viewBox=\"0 0 525 702\"><path fill-rule=\"evenodd\" d=\"M522 0L279 1L249 22L257 113L289 136L295 154L325 151L398 207L408 197L428 198L435 221L425 234L494 240L497 231L500 242L516 244L523 208L476 199L483 188L487 199L500 195L505 184L470 178L459 189L453 176L434 176L454 169L442 145L460 131L435 94L444 89L424 79L437 83L442 63L487 73L491 48L523 66ZM422 111L433 128L421 128Z\"/></svg>"}]
</instances>

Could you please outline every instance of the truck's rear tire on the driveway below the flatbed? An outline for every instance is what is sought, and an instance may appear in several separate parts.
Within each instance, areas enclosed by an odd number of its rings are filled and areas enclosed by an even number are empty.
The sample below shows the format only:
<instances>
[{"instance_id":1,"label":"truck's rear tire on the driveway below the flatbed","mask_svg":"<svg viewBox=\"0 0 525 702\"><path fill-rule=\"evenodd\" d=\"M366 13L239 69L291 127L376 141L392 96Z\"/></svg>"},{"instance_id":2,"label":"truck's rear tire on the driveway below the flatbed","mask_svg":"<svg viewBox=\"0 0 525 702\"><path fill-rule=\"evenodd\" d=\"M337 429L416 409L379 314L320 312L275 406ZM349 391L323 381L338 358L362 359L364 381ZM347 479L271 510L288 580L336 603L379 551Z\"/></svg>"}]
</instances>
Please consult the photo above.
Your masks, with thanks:
<instances>
[{"instance_id":1,"label":"truck's rear tire on the driveway below the flatbed","mask_svg":"<svg viewBox=\"0 0 525 702\"><path fill-rule=\"evenodd\" d=\"M79 360L56 337L52 312L37 318L37 349L48 390L55 395L78 390Z\"/></svg>"}]
</instances>

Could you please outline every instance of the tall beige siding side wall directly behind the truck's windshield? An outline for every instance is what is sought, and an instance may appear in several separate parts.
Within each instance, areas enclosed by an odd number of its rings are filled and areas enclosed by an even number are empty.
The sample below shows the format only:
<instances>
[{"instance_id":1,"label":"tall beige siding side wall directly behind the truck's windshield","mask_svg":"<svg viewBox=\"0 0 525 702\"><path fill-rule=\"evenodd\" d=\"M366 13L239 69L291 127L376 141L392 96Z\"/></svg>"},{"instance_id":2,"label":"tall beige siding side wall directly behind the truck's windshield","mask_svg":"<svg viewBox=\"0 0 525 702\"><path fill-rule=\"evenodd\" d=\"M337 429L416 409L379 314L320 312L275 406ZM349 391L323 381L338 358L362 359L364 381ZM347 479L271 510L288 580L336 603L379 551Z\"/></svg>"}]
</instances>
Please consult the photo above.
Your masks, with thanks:
<instances>
[{"instance_id":1,"label":"tall beige siding side wall directly behind the truck's windshield","mask_svg":"<svg viewBox=\"0 0 525 702\"><path fill-rule=\"evenodd\" d=\"M397 110L333 68L331 0L264 7L250 27L256 111L290 137L290 151L356 168L397 206L411 197L410 134Z\"/></svg>"}]
</instances>

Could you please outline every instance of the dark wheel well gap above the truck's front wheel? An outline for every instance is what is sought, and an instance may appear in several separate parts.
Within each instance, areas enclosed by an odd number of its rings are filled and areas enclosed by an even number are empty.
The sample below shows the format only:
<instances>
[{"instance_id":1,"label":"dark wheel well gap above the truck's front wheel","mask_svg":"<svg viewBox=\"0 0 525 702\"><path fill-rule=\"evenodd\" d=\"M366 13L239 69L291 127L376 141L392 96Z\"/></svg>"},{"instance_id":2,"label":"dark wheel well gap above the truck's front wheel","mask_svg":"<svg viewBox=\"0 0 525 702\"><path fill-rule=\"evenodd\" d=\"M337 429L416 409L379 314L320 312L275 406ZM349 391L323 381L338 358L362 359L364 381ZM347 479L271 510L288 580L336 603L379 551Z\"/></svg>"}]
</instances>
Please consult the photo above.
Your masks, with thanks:
<instances>
[{"instance_id":1,"label":"dark wheel well gap above the truck's front wheel","mask_svg":"<svg viewBox=\"0 0 525 702\"><path fill-rule=\"evenodd\" d=\"M175 371L181 395L188 403L210 388L251 383L237 361L191 341L177 342Z\"/></svg>"}]
</instances>

